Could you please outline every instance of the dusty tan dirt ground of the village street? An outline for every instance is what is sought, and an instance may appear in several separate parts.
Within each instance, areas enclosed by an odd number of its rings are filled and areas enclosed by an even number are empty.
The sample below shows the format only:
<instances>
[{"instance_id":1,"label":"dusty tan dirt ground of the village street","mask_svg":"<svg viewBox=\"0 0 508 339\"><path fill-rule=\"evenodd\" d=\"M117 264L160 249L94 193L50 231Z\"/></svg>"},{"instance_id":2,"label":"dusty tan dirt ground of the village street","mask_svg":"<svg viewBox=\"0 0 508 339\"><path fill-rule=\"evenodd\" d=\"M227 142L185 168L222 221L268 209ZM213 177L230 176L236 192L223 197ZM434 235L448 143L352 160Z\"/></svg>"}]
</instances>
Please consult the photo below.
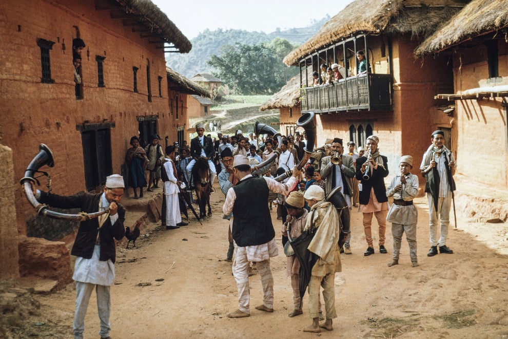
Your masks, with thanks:
<instances>
[{"instance_id":1,"label":"dusty tan dirt ground of the village street","mask_svg":"<svg viewBox=\"0 0 508 339\"><path fill-rule=\"evenodd\" d=\"M388 254L379 254L375 240L376 254L364 257L361 214L351 213L353 254L342 254L343 272L336 275L339 317L334 319L334 331L320 334L302 332L310 324L306 299L303 315L287 316L292 310L292 293L285 276L281 222L273 211L280 245L280 255L271 261L275 312L253 309L262 303L256 274L250 278L251 316L227 318L238 300L231 264L223 260L227 222L221 213L224 196L218 187L216 190L211 195L213 217L203 225L192 221L187 227L167 231L150 224L142 231L138 248L126 250L125 242L119 244L112 287L113 338L508 338L508 230L503 223L468 223L459 218L458 230L450 231L447 243L455 253L427 257L425 198L415 200L419 212L417 268L411 267L405 239L400 265L386 266L392 250L389 227ZM7 335L71 337L74 299L73 284L47 296L26 296L26 310ZM85 337L96 338L98 332L92 295Z\"/></svg>"}]
</instances>

